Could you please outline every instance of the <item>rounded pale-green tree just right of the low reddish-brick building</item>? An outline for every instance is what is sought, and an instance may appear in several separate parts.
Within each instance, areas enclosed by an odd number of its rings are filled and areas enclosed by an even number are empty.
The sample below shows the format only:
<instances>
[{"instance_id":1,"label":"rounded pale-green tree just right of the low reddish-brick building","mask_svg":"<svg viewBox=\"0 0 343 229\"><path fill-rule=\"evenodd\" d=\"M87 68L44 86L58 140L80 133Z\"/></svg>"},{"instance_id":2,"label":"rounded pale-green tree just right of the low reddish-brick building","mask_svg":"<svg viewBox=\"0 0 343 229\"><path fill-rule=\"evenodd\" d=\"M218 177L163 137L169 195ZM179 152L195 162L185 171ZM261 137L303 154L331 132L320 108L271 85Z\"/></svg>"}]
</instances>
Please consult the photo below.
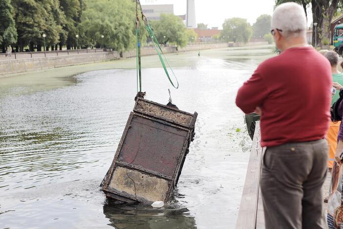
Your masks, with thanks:
<instances>
[{"instance_id":1,"label":"rounded pale-green tree just right of the low reddish-brick building","mask_svg":"<svg viewBox=\"0 0 343 229\"><path fill-rule=\"evenodd\" d=\"M252 35L251 25L246 19L230 18L223 23L221 36L225 36L228 41L243 42L247 44Z\"/></svg>"}]
</instances>

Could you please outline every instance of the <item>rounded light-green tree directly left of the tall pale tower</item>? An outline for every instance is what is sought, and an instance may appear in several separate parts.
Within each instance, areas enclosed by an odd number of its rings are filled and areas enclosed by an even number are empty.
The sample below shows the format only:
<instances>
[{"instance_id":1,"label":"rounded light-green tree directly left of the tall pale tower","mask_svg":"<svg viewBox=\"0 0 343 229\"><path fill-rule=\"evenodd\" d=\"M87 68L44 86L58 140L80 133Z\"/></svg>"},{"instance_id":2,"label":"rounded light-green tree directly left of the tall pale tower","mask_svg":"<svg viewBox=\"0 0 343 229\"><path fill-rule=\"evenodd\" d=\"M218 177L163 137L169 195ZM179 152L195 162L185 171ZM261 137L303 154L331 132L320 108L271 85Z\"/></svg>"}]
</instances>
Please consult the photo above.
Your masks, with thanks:
<instances>
[{"instance_id":1,"label":"rounded light-green tree directly left of the tall pale tower","mask_svg":"<svg viewBox=\"0 0 343 229\"><path fill-rule=\"evenodd\" d=\"M171 42L180 47L187 45L187 28L180 17L173 14L161 14L161 19L151 21L151 25L157 40L162 44Z\"/></svg>"}]
</instances>

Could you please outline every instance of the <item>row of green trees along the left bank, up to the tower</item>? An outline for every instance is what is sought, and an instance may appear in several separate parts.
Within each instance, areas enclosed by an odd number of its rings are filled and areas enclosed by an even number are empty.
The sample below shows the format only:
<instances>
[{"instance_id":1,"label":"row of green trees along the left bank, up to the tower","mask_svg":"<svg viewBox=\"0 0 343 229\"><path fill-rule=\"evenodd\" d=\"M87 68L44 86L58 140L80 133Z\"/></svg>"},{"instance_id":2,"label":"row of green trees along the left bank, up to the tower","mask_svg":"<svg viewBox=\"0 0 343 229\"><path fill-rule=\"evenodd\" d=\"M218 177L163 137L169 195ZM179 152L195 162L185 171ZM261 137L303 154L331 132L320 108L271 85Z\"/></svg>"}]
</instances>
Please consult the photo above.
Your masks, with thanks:
<instances>
[{"instance_id":1,"label":"row of green trees along the left bank, up to the tower","mask_svg":"<svg viewBox=\"0 0 343 229\"><path fill-rule=\"evenodd\" d=\"M0 47L2 52L9 45L42 51L44 44L45 50L129 50L135 46L135 12L134 0L0 0ZM164 44L185 46L196 39L177 16L162 15L151 24ZM140 31L142 42L149 41L142 22Z\"/></svg>"}]
</instances>

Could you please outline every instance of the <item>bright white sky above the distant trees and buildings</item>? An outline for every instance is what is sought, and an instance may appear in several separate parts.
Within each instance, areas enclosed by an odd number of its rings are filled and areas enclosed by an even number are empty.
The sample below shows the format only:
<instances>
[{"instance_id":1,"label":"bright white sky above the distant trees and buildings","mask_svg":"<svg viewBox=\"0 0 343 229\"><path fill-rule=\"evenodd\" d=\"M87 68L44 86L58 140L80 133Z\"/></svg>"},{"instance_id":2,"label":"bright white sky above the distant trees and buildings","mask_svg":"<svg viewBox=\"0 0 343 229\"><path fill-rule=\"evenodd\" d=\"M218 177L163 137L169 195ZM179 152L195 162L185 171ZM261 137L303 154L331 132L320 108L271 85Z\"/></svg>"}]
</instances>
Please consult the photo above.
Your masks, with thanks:
<instances>
[{"instance_id":1,"label":"bright white sky above the distant trees and buildings","mask_svg":"<svg viewBox=\"0 0 343 229\"><path fill-rule=\"evenodd\" d=\"M141 0L141 4L173 4L175 15L186 14L187 0ZM196 23L222 28L225 19L245 18L250 24L273 14L275 0L195 0Z\"/></svg>"}]
</instances>

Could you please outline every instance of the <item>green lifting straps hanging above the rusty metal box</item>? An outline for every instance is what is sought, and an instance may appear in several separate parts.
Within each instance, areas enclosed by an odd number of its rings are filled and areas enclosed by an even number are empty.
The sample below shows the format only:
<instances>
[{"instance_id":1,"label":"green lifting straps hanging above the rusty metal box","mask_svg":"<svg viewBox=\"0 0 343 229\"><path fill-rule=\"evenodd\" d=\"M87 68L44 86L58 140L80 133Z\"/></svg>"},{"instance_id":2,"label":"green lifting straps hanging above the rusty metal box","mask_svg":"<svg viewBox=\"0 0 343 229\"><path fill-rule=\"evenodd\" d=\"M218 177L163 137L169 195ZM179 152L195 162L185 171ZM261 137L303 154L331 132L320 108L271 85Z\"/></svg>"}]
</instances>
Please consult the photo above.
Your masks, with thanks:
<instances>
[{"instance_id":1,"label":"green lifting straps hanging above the rusty metal box","mask_svg":"<svg viewBox=\"0 0 343 229\"><path fill-rule=\"evenodd\" d=\"M137 92L138 92L138 84L139 84L139 92L142 92L142 71L141 71L141 41L140 41L140 32L139 32L139 17L138 17L138 5L139 5L139 8L141 10L141 14L142 14L142 20L145 24L145 27L149 33L149 36L152 40L152 43L156 49L156 52L157 52L157 55L158 57L160 58L160 61L161 61L161 64L162 64L162 67L169 79L169 82L171 82L172 86L176 89L179 88L179 82L175 76L175 73L173 72L172 70L172 67L171 65L169 64L166 56L164 55L163 51L162 51L162 48L160 46L160 44L158 43L153 31L152 31L152 28L148 22L148 19L145 17L144 13L143 13L143 10L142 10L142 6L141 6L141 2L140 0L136 0L136 41L137 41L137 45L136 45L136 65L137 65ZM167 65L165 64L167 63ZM168 69L170 69L170 71L172 72L172 75L174 76L175 80L176 80L176 86L175 84L172 82L172 79L170 77L170 74L169 74L169 71Z\"/></svg>"}]
</instances>

